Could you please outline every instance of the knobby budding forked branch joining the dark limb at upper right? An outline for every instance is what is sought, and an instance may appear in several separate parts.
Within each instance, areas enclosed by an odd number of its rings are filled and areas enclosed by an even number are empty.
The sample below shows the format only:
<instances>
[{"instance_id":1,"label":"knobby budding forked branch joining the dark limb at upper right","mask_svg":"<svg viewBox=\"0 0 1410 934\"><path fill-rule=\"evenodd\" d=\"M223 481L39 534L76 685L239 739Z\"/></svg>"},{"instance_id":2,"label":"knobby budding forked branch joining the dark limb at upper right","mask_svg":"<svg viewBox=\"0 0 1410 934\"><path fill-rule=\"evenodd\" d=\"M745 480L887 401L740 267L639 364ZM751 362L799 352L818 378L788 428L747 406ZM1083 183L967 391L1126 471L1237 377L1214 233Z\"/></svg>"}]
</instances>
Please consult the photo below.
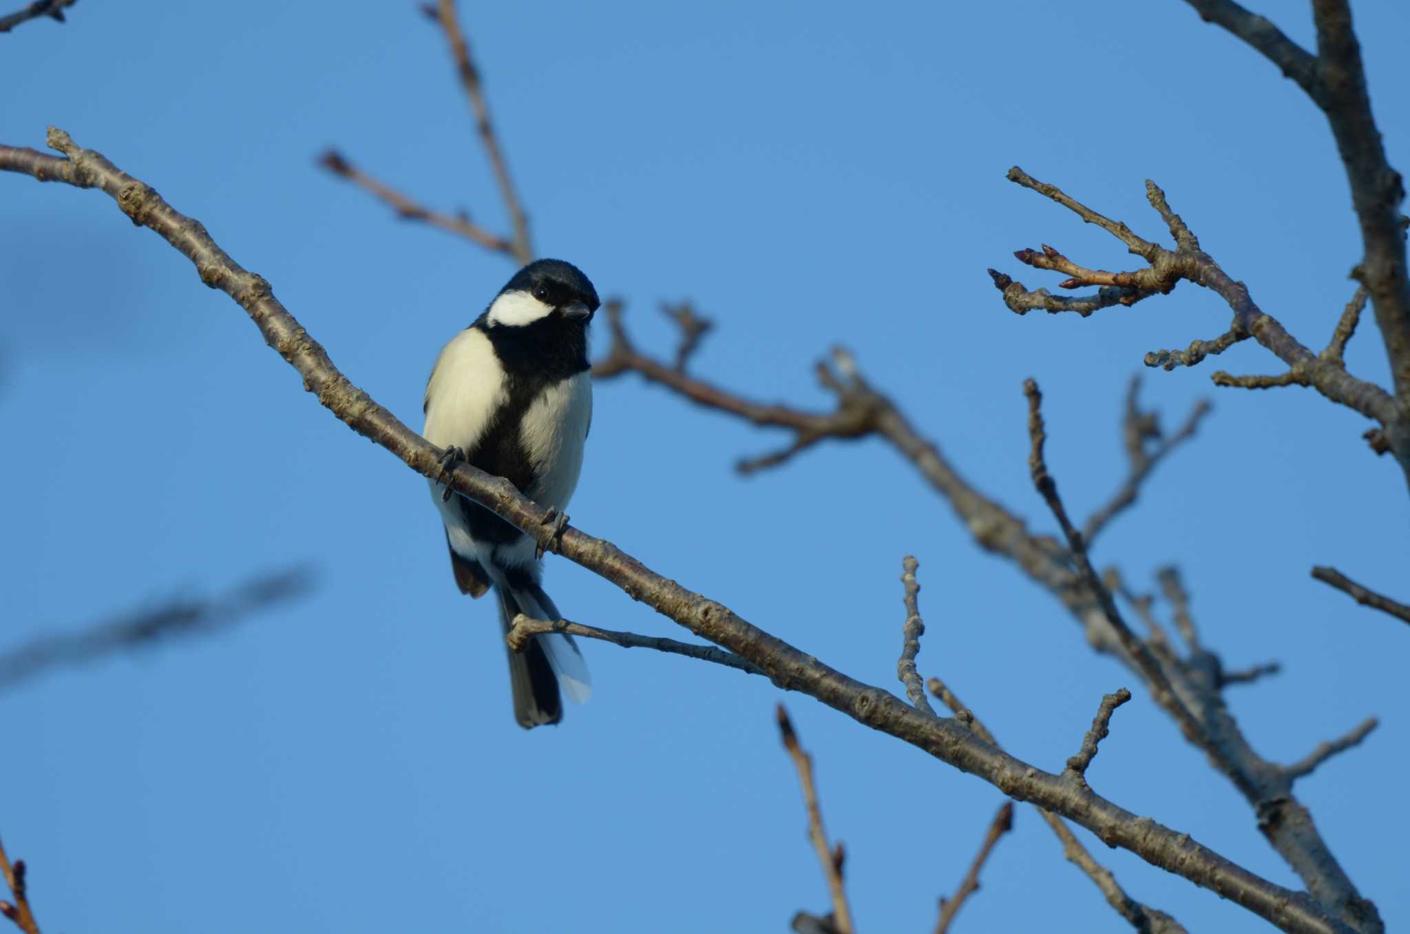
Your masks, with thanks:
<instances>
[{"instance_id":1,"label":"knobby budding forked branch joining the dark limb at upper right","mask_svg":"<svg viewBox=\"0 0 1410 934\"><path fill-rule=\"evenodd\" d=\"M1111 220L1091 210L1066 195L1056 185L1039 182L1017 165L1008 171L1008 179L1058 202L1083 220L1100 226L1124 243L1131 253L1146 261L1145 268L1131 272L1101 272L1080 267L1048 245L1043 247L1042 253L1019 250L1014 254L1021 262L1035 268L1055 269L1066 274L1069 278L1060 282L1062 288L1077 288L1081 285L1100 285L1104 289L1124 288L1129 291L1134 301L1135 298L1144 298L1156 292L1169 292L1179 281L1187 279L1214 291L1228 303L1234 312L1234 320L1227 333L1215 340L1196 340L1183 351L1162 350L1148 353L1145 357L1148 367L1172 370L1175 367L1196 365L1208 354L1222 353L1232 344L1252 337L1289 365L1286 380L1283 377L1241 380L1230 377L1227 372L1218 372L1214 377L1215 384L1261 387L1308 385L1332 402L1338 402L1361 412L1366 418L1375 419L1387 430L1399 425L1403 413L1394 396L1373 382L1358 380L1347 372L1345 363L1340 354L1314 354L1289 334L1275 317L1263 312L1253 302L1248 288L1242 282L1232 279L1210 254L1200 248L1198 238L1190 231L1180 216L1170 210L1165 192L1155 182L1146 181L1146 200L1151 202L1151 207L1160 214L1160 219L1169 227L1176 241L1175 250L1166 250L1156 243L1138 237L1125 223ZM1001 277L993 269L990 274L995 277L994 282L1004 293L1005 305L1019 315L1025 315L1034 308L1046 308L1050 312L1079 310L1083 316L1094 310L1091 308L1053 306L1045 298L1028 293L1021 285L1008 279L1008 277ZM1410 477L1410 447L1404 449L1404 456L1400 457L1400 461L1407 477Z\"/></svg>"}]
</instances>

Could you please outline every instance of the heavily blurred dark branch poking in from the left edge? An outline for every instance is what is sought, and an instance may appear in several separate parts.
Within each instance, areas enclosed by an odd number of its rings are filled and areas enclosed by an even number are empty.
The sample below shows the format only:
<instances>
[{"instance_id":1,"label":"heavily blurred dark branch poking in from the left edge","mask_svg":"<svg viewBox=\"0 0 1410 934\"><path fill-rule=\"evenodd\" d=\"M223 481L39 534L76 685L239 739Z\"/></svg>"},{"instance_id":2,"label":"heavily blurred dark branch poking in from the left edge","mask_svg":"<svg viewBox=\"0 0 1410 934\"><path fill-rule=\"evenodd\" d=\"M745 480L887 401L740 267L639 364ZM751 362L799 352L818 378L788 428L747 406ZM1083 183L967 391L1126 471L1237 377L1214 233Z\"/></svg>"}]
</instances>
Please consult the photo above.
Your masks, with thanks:
<instances>
[{"instance_id":1,"label":"heavily blurred dark branch poking in from the left edge","mask_svg":"<svg viewBox=\"0 0 1410 934\"><path fill-rule=\"evenodd\" d=\"M207 600L175 600L155 609L128 612L79 632L39 636L0 655L0 691L66 665L85 665L117 652L144 649L162 639L206 635L244 622L313 588L307 567L262 574Z\"/></svg>"}]
</instances>

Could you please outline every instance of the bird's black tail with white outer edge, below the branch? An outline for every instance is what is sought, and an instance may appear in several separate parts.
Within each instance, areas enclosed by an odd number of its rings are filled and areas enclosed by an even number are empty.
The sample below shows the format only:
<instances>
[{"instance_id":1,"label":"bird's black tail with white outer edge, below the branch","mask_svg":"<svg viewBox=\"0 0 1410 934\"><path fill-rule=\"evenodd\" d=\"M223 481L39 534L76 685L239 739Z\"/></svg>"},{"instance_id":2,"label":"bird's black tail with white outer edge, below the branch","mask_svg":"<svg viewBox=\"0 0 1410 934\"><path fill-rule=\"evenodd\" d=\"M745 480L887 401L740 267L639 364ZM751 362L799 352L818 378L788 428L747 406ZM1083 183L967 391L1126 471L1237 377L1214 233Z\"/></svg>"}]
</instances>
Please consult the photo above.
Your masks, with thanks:
<instances>
[{"instance_id":1,"label":"bird's black tail with white outer edge, below the branch","mask_svg":"<svg viewBox=\"0 0 1410 934\"><path fill-rule=\"evenodd\" d=\"M515 615L533 619L561 619L558 608L530 583L523 587L496 584L499 595L499 624L505 633L513 626ZM548 632L529 639L522 652L509 650L509 687L515 698L515 720L525 729L556 724L563 720L563 694L575 704L588 700L592 681L572 636Z\"/></svg>"}]
</instances>

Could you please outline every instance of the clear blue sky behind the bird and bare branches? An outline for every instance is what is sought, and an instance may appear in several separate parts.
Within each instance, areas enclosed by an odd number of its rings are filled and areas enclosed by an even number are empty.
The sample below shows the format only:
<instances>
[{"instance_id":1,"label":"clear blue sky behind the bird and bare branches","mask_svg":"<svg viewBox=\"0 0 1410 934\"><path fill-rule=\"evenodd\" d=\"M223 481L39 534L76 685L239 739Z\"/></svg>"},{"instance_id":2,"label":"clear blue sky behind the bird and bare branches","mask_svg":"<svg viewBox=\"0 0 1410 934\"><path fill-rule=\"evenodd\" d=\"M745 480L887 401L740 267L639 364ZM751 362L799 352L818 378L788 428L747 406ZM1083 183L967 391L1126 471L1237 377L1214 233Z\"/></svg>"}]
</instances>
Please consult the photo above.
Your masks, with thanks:
<instances>
[{"instance_id":1,"label":"clear blue sky behind the bird and bare branches","mask_svg":"<svg viewBox=\"0 0 1410 934\"><path fill-rule=\"evenodd\" d=\"M1306 4L1265 3L1310 42ZM1356 3L1373 103L1410 168L1410 14ZM1320 347L1359 238L1323 117L1176 0L1060 4L467 4L465 25L543 254L630 302L718 322L695 368L826 405L833 343L987 492L1035 528L1024 377L1079 515L1124 473L1121 392L1158 347L1214 337L1190 285L1081 320L1004 309L988 265L1052 243L1124 248L1004 181L1010 165L1162 230L1156 179L1201 243ZM512 272L395 222L314 168L327 145L430 205L502 227L441 37L415 4L80 3L0 37L0 138L56 124L154 185L265 275L338 365L419 425L436 351ZM320 588L217 638L65 670L0 697L0 832L47 931L781 931L826 894L760 679L589 645L596 693L557 729L510 718L491 607L461 598L424 484L300 392L244 313L93 192L0 178L4 643L312 562ZM602 336L599 334L599 339ZM603 341L599 340L599 346ZM1368 320L1352 370L1385 380ZM1211 365L1213 364L1213 365ZM1277 371L1252 341L1149 372L1163 466L1098 563L1177 562L1253 746L1303 756L1380 729L1299 792L1392 930L1410 924L1404 625L1311 581L1314 563L1410 597L1410 497L1368 425L1311 391L1215 391ZM828 444L750 480L787 439L634 381L602 385L575 525L825 662L895 686L901 556L921 559L942 674L1018 756L1059 769L1104 691L1136 689L1090 772L1100 792L1282 885L1245 803L1056 602L967 533L891 450ZM761 522L761 519L767 519ZM785 535L776 529L787 529ZM680 635L550 559L571 618ZM863 931L924 931L1000 794L808 698L785 698L847 844ZM1086 839L1091 841L1090 837ZM1124 852L1094 852L1191 931L1262 923ZM1121 931L1025 808L957 930Z\"/></svg>"}]
</instances>

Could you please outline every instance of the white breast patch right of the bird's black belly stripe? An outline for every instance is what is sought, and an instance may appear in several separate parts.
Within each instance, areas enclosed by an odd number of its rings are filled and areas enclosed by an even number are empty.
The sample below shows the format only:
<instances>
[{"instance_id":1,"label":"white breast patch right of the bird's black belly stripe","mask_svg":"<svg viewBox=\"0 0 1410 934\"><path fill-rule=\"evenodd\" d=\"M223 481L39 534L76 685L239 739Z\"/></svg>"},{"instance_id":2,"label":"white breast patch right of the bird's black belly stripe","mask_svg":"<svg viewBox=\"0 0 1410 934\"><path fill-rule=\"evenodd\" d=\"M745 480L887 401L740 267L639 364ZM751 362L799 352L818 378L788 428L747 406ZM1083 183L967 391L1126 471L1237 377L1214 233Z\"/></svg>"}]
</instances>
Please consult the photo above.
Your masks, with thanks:
<instances>
[{"instance_id":1,"label":"white breast patch right of the bird's black belly stripe","mask_svg":"<svg viewBox=\"0 0 1410 934\"><path fill-rule=\"evenodd\" d=\"M592 422L592 378L580 372L548 387L525 412L520 439L539 483L525 492L539 505L563 509L578 487L582 446Z\"/></svg>"}]
</instances>

